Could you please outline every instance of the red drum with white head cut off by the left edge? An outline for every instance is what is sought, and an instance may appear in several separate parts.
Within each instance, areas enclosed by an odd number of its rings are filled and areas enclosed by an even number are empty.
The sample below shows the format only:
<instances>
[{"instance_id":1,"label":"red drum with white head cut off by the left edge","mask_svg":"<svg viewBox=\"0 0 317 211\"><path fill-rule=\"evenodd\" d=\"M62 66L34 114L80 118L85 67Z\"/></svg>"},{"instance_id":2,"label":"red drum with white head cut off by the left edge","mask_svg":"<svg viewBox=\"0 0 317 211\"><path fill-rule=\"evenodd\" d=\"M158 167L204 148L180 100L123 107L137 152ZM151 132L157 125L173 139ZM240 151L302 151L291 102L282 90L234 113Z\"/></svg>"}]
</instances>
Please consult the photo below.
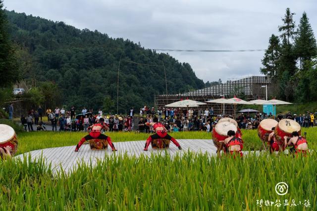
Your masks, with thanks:
<instances>
[{"instance_id":1,"label":"red drum with white head cut off by the left edge","mask_svg":"<svg viewBox=\"0 0 317 211\"><path fill-rule=\"evenodd\" d=\"M11 148L10 153L14 155L18 149L18 140L12 127L0 124L0 147L6 146Z\"/></svg>"}]
</instances>

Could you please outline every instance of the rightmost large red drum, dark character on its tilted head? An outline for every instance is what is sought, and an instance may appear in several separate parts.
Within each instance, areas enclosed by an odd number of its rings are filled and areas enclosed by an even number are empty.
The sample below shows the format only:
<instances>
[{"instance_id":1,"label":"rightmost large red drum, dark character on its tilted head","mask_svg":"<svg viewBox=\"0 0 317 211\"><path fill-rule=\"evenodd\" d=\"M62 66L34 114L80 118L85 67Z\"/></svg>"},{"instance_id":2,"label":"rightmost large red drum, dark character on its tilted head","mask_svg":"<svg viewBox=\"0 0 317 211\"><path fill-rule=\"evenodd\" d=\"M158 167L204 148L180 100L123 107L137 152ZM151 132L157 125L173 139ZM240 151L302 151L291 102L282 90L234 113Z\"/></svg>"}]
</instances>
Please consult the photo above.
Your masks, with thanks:
<instances>
[{"instance_id":1,"label":"rightmost large red drum, dark character on its tilted head","mask_svg":"<svg viewBox=\"0 0 317 211\"><path fill-rule=\"evenodd\" d=\"M283 119L279 121L274 130L274 135L278 144L284 143L284 136L292 137L292 132L301 134L301 126L294 120Z\"/></svg>"}]
</instances>

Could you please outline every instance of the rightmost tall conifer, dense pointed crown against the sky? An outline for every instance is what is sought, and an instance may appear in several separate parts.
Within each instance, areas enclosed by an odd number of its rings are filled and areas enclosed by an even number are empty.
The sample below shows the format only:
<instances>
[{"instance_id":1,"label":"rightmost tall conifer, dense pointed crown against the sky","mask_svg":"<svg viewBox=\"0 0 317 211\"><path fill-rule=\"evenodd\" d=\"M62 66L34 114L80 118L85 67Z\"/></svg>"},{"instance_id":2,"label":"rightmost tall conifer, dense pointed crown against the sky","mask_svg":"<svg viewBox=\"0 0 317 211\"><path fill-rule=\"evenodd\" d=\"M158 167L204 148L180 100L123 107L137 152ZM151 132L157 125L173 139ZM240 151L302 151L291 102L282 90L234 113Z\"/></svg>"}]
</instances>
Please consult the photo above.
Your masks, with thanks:
<instances>
[{"instance_id":1,"label":"rightmost tall conifer, dense pointed crown against the sky","mask_svg":"<svg viewBox=\"0 0 317 211\"><path fill-rule=\"evenodd\" d=\"M298 33L295 39L295 53L303 70L305 61L311 61L317 55L317 44L314 32L306 12L300 20Z\"/></svg>"}]
</instances>

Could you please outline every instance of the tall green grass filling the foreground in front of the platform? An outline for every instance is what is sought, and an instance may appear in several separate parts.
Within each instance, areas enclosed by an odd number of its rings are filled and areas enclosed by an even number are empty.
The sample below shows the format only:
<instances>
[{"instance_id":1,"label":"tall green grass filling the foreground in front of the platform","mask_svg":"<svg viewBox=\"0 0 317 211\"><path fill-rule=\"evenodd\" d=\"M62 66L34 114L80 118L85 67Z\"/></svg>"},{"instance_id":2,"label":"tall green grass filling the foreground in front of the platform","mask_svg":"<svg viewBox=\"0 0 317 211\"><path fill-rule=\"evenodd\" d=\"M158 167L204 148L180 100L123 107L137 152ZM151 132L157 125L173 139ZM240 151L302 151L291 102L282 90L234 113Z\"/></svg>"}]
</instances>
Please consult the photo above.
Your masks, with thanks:
<instances>
[{"instance_id":1,"label":"tall green grass filling the foreground in front of the platform","mask_svg":"<svg viewBox=\"0 0 317 211\"><path fill-rule=\"evenodd\" d=\"M309 158L251 155L244 159L187 153L106 157L92 167L54 175L39 160L0 161L0 210L286 210L257 200L309 200L316 210L317 155ZM278 196L284 181L289 193ZM273 205L274 206L274 205ZM302 211L303 205L288 207Z\"/></svg>"}]
</instances>

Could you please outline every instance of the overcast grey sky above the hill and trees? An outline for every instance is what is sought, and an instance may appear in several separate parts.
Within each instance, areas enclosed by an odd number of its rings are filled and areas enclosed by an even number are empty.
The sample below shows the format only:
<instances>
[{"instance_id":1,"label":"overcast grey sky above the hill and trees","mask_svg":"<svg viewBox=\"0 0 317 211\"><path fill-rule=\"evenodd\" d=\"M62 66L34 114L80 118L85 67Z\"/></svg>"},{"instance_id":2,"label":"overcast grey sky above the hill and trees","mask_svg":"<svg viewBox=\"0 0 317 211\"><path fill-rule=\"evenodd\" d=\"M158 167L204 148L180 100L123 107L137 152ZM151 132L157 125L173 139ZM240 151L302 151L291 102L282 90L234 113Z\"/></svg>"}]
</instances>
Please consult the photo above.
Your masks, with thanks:
<instances>
[{"instance_id":1,"label":"overcast grey sky above the hill and trees","mask_svg":"<svg viewBox=\"0 0 317 211\"><path fill-rule=\"evenodd\" d=\"M316 0L4 0L4 6L146 48L266 49L286 7L296 13L296 24L306 11L317 32ZM207 82L260 75L264 52L169 54Z\"/></svg>"}]
</instances>

